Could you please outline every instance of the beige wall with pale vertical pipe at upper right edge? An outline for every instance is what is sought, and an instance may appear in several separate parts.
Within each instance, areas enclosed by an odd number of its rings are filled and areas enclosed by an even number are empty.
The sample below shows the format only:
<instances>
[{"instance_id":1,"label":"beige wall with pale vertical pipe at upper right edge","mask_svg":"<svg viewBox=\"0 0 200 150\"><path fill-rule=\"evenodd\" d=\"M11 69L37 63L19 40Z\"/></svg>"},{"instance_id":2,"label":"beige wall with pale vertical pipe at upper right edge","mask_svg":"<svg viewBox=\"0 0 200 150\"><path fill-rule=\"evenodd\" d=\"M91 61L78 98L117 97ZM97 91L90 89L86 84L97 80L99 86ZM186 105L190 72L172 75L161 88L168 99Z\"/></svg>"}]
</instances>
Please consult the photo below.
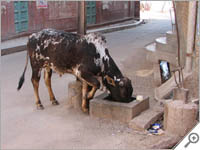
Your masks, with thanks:
<instances>
[{"instance_id":1,"label":"beige wall with pale vertical pipe at upper right edge","mask_svg":"<svg viewBox=\"0 0 200 150\"><path fill-rule=\"evenodd\" d=\"M195 1L177 1L175 3L180 36L181 65L191 69L195 54L194 37L197 23L195 22L197 3Z\"/></svg>"}]
</instances>

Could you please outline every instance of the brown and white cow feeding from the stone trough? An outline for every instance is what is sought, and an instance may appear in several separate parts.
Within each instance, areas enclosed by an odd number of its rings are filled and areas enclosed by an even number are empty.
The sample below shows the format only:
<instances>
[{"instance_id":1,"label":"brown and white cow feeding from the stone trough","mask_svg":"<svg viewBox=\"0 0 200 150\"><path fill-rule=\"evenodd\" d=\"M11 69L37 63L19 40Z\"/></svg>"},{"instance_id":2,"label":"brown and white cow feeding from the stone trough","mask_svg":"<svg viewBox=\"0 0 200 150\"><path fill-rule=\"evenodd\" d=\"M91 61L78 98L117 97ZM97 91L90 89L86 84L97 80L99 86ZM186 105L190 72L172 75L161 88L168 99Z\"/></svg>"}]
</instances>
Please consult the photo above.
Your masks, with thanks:
<instances>
[{"instance_id":1,"label":"brown and white cow feeding from the stone trough","mask_svg":"<svg viewBox=\"0 0 200 150\"><path fill-rule=\"evenodd\" d=\"M70 73L82 83L82 110L88 111L87 102L103 85L110 91L112 99L126 102L131 99L131 80L124 77L115 64L106 46L106 39L99 33L86 35L68 33L55 29L43 29L29 36L26 64L17 89L24 83L28 59L32 68L31 81L34 88L37 109L44 109L39 94L41 70L44 69L45 84L50 101L58 105L51 88L52 70L60 75ZM90 90L89 90L90 89Z\"/></svg>"}]
</instances>

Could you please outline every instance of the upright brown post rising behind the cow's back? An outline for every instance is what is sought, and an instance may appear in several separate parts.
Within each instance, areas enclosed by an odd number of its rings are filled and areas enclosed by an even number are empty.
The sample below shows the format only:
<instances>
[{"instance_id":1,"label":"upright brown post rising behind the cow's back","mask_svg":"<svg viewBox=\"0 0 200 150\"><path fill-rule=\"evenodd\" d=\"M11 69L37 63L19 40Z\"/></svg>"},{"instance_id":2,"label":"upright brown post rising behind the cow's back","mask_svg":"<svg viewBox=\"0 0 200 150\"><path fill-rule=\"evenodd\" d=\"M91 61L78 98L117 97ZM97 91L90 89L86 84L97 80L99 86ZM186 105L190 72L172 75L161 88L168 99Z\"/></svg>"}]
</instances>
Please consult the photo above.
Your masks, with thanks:
<instances>
[{"instance_id":1,"label":"upright brown post rising behind the cow's back","mask_svg":"<svg viewBox=\"0 0 200 150\"><path fill-rule=\"evenodd\" d=\"M78 34L86 34L85 1L78 1Z\"/></svg>"}]
</instances>

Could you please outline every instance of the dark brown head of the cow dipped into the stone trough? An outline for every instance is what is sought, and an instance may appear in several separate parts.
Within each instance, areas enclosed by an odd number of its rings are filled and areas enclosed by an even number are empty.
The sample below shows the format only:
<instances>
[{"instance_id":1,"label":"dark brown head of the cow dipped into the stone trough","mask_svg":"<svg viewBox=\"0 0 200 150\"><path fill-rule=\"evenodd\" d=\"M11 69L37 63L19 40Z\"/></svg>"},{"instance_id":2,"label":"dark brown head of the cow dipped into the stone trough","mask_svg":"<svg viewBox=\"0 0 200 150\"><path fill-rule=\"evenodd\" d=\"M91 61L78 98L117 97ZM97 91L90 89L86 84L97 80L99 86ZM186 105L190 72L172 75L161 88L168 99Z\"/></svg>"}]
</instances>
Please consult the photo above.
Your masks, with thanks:
<instances>
[{"instance_id":1,"label":"dark brown head of the cow dipped into the stone trough","mask_svg":"<svg viewBox=\"0 0 200 150\"><path fill-rule=\"evenodd\" d=\"M112 79L106 76L105 85L111 92L113 100L119 102L130 102L133 93L133 87L130 79L127 77Z\"/></svg>"}]
</instances>

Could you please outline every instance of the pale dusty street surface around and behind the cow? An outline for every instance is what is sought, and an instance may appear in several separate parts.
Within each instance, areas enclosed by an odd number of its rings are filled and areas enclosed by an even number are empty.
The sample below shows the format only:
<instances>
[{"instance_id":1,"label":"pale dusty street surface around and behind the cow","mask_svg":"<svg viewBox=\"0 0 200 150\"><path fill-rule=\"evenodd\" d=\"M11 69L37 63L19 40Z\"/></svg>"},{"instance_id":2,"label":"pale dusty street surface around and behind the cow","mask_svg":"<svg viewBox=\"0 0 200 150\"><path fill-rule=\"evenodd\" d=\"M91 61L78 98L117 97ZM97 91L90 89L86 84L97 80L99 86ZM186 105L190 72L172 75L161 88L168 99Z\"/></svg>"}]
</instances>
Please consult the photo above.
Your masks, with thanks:
<instances>
[{"instance_id":1,"label":"pale dusty street surface around and behind the cow","mask_svg":"<svg viewBox=\"0 0 200 150\"><path fill-rule=\"evenodd\" d=\"M118 64L132 58L140 64L142 60L141 57L137 57L137 50L170 29L169 20L151 21L136 28L108 33L105 36L110 53ZM67 84L74 79L71 75L64 75L62 78L53 75L53 89L60 102L59 106L50 104L47 89L41 79L40 96L45 109L36 110L30 82L30 66L21 91L16 90L25 65L25 55L25 52L20 52L1 57L1 148L109 149L147 146L146 135L138 135L119 123L90 118L68 108ZM154 139L159 138L152 140Z\"/></svg>"}]
</instances>

